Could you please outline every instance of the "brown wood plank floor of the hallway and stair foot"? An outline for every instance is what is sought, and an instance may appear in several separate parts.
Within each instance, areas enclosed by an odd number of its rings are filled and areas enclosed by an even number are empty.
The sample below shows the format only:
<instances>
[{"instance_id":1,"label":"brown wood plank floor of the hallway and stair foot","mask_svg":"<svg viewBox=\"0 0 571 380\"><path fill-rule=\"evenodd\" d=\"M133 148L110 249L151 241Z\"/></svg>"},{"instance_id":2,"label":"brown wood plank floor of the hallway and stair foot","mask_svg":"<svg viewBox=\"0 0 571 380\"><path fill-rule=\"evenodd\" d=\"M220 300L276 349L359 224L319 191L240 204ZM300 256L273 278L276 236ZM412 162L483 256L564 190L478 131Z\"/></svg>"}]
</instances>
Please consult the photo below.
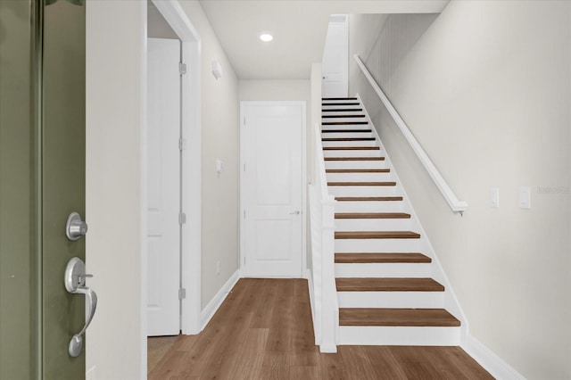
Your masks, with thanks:
<instances>
[{"instance_id":1,"label":"brown wood plank floor of the hallway and stair foot","mask_svg":"<svg viewBox=\"0 0 571 380\"><path fill-rule=\"evenodd\" d=\"M492 379L459 347L314 343L307 281L243 278L200 335L149 338L150 380Z\"/></svg>"}]
</instances>

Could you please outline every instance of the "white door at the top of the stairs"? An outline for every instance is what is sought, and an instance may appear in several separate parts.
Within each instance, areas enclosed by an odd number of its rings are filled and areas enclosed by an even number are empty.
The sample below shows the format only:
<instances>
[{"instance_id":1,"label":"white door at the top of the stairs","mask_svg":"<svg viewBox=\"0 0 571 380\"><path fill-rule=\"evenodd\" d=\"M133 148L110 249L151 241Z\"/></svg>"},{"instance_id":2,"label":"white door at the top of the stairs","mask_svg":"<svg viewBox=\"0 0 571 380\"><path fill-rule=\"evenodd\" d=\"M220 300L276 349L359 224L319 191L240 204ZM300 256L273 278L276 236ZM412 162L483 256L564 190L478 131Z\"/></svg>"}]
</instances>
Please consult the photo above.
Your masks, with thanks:
<instances>
[{"instance_id":1,"label":"white door at the top of the stairs","mask_svg":"<svg viewBox=\"0 0 571 380\"><path fill-rule=\"evenodd\" d=\"M346 14L329 19L323 49L323 97L345 97L349 92L349 23Z\"/></svg>"}]
</instances>

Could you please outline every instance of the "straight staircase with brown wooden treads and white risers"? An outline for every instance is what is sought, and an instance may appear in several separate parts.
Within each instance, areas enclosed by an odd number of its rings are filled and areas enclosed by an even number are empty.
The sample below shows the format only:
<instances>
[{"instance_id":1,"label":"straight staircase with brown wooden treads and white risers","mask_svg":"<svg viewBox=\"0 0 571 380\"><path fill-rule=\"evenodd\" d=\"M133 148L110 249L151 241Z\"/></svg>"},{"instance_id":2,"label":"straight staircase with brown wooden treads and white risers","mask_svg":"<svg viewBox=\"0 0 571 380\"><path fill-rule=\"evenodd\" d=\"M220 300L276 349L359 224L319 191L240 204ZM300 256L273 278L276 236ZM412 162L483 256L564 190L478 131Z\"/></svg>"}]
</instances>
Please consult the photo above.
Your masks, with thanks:
<instances>
[{"instance_id":1,"label":"straight staircase with brown wooden treads and white risers","mask_svg":"<svg viewBox=\"0 0 571 380\"><path fill-rule=\"evenodd\" d=\"M360 99L322 107L338 343L459 345L459 308Z\"/></svg>"}]
</instances>

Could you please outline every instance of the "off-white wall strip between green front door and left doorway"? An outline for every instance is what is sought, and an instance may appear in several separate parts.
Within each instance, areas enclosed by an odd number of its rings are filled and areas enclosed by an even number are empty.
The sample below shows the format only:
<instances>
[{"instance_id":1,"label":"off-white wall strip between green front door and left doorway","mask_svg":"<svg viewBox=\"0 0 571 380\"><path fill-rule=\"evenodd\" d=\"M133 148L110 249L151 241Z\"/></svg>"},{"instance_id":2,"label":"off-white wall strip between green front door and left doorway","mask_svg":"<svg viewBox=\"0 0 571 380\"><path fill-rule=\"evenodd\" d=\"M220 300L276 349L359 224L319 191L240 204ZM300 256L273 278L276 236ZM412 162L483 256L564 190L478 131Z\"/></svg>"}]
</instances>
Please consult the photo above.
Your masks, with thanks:
<instances>
[{"instance_id":1,"label":"off-white wall strip between green front door and left doorway","mask_svg":"<svg viewBox=\"0 0 571 380\"><path fill-rule=\"evenodd\" d=\"M87 6L87 271L98 295L87 330L97 379L146 376L141 347L141 83L146 3Z\"/></svg>"}]
</instances>

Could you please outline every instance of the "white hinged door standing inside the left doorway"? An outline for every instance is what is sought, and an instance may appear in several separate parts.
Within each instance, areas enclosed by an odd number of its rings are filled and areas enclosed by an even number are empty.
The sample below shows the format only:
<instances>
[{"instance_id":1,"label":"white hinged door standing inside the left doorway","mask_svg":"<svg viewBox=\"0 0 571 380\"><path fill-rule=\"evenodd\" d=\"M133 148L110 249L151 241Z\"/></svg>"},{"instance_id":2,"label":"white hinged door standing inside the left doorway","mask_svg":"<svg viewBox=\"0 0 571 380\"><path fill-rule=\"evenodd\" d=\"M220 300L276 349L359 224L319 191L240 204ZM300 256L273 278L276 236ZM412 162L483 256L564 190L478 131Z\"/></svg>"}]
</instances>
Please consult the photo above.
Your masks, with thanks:
<instances>
[{"instance_id":1,"label":"white hinged door standing inside the left doorway","mask_svg":"<svg viewBox=\"0 0 571 380\"><path fill-rule=\"evenodd\" d=\"M148 39L148 335L180 331L180 41Z\"/></svg>"}]
</instances>

